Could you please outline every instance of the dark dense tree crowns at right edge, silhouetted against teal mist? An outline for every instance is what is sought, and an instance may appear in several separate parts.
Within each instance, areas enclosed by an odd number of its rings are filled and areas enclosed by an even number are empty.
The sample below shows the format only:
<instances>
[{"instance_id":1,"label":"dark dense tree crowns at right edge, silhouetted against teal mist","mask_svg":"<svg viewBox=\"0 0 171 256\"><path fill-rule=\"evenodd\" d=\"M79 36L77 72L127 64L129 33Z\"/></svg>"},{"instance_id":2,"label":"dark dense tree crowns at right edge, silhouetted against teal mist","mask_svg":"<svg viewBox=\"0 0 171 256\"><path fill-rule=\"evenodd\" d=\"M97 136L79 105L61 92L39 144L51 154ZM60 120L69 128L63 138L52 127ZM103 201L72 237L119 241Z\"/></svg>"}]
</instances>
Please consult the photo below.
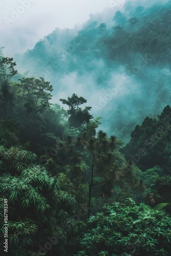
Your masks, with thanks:
<instances>
[{"instance_id":1,"label":"dark dense tree crowns at right edge, silhouetted against teal mist","mask_svg":"<svg viewBox=\"0 0 171 256\"><path fill-rule=\"evenodd\" d=\"M123 150L126 158L132 158L142 170L158 165L169 174L170 112L170 106L167 105L157 117L146 117L142 125L135 127L130 142ZM158 172L158 175L162 173Z\"/></svg>"}]
</instances>

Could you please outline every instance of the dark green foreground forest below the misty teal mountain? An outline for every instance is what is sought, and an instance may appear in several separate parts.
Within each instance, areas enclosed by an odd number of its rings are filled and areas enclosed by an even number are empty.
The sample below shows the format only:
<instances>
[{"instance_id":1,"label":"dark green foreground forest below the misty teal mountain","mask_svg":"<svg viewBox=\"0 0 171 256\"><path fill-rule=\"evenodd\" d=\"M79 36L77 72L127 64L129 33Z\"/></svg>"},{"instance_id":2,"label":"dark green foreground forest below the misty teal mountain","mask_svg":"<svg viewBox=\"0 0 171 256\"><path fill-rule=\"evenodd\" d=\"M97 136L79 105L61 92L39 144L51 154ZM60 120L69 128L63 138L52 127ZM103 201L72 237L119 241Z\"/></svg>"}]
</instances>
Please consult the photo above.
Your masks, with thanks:
<instances>
[{"instance_id":1,"label":"dark green foreground forest below the misty teal mountain","mask_svg":"<svg viewBox=\"0 0 171 256\"><path fill-rule=\"evenodd\" d=\"M10 81L15 66L1 59L1 217L10 255L169 255L170 107L146 117L122 147L96 132L100 118L81 108L85 98L60 99L66 111L50 103L44 78ZM2 253L4 232L2 222Z\"/></svg>"}]
</instances>

